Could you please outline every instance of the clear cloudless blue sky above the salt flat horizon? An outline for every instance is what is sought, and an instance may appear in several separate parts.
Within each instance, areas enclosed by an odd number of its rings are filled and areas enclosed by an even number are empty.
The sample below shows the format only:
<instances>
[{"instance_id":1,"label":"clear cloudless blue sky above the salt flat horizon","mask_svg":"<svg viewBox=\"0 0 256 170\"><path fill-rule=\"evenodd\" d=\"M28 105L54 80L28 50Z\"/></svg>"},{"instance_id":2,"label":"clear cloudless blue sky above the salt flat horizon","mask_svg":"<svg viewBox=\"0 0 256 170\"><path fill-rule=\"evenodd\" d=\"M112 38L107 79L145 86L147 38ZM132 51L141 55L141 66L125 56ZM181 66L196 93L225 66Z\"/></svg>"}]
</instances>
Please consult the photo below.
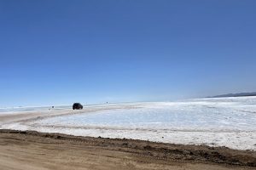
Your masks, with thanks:
<instances>
[{"instance_id":1,"label":"clear cloudless blue sky above the salt flat horizon","mask_svg":"<svg viewBox=\"0 0 256 170\"><path fill-rule=\"evenodd\" d=\"M256 91L255 0L0 0L0 106Z\"/></svg>"}]
</instances>

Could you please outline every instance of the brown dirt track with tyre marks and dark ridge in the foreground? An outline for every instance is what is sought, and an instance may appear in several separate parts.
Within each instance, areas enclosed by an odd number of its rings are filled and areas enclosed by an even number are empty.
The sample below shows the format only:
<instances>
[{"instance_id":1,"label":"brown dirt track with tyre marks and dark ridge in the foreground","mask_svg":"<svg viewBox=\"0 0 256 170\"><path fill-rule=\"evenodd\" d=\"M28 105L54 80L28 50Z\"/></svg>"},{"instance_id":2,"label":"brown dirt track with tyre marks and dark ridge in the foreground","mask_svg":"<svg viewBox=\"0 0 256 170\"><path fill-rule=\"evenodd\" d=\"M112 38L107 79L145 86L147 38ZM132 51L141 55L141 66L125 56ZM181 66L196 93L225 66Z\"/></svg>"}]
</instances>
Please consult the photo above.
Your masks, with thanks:
<instances>
[{"instance_id":1,"label":"brown dirt track with tyre marks and dark ridge in the foreground","mask_svg":"<svg viewBox=\"0 0 256 170\"><path fill-rule=\"evenodd\" d=\"M9 169L256 169L256 152L132 139L0 130Z\"/></svg>"}]
</instances>

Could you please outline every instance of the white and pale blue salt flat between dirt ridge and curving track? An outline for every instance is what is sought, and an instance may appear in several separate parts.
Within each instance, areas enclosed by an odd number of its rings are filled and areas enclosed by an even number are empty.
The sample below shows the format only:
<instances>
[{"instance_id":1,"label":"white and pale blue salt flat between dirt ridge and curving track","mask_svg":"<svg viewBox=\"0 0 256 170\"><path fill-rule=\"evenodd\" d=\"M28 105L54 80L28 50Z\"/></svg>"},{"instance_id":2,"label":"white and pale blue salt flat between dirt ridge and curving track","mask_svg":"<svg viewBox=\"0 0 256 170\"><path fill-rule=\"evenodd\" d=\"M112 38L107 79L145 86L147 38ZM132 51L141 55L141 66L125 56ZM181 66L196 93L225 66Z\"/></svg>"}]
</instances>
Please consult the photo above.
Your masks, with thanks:
<instances>
[{"instance_id":1,"label":"white and pale blue salt flat between dirt ridge and curving track","mask_svg":"<svg viewBox=\"0 0 256 170\"><path fill-rule=\"evenodd\" d=\"M105 105L102 111L88 112L85 106L84 113L37 119L5 127L256 150L256 97L116 105L122 107L111 109Z\"/></svg>"}]
</instances>

